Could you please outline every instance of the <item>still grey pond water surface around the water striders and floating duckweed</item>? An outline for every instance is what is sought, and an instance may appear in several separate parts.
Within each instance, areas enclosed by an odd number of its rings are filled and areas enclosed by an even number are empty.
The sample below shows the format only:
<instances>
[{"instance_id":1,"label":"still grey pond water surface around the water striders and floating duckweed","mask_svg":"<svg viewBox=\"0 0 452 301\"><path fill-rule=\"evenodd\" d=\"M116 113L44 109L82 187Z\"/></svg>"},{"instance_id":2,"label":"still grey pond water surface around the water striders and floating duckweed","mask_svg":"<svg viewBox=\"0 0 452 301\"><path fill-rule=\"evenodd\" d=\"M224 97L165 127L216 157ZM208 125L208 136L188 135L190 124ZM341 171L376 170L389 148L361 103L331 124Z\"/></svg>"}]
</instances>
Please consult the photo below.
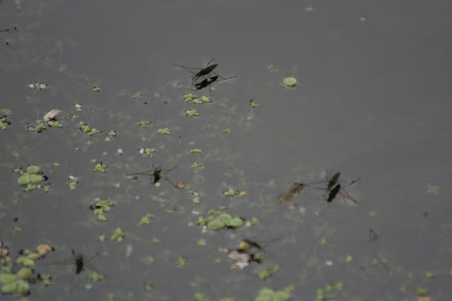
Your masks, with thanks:
<instances>
[{"instance_id":1,"label":"still grey pond water surface around the water striders and floating duckweed","mask_svg":"<svg viewBox=\"0 0 452 301\"><path fill-rule=\"evenodd\" d=\"M314 11L305 11L308 6ZM0 29L11 31L0 33L0 108L12 111L12 125L0 133L0 238L13 254L40 242L56 247L35 267L52 274L54 284L32 285L30 300L106 300L108 294L114 300L191 300L197 292L210 300L254 300L260 288L288 285L295 288L292 300L315 300L317 289L338 281L345 288L337 300L415 300L419 287L429 288L432 300L448 300L451 6L1 1ZM212 58L220 75L237 78L214 85L213 103L185 104L191 75L173 63L202 68ZM286 76L298 85L283 87ZM47 89L30 90L37 80ZM133 97L137 92L141 96ZM260 106L250 109L250 99ZM74 104L82 104L81 117L63 118L76 113ZM27 132L28 123L55 108L64 128ZM201 116L185 116L193 108ZM144 120L153 123L135 124ZM81 133L80 121L103 133ZM172 135L157 133L165 127ZM105 142L109 130L118 135ZM146 178L125 178L150 166L139 147L157 149L155 163L163 168L179 165L169 177L187 188L165 181L150 188ZM193 148L203 152L189 154ZM92 159L107 165L107 173L93 173ZM194 171L195 161L205 168ZM48 193L23 192L17 184L13 169L28 164L49 177ZM276 202L295 181L321 180L326 168L345 180L361 178L349 188L359 206L340 198L328 205L314 190L295 199L298 207ZM66 185L71 175L81 177L73 191ZM439 194L427 193L429 185ZM228 188L247 195L225 197ZM188 190L201 193L201 204ZM89 209L96 197L117 203L105 223ZM259 223L235 238L232 231L187 227L198 219L194 210L206 216L219 206ZM155 219L138 227L148 213ZM15 233L16 226L23 230ZM122 242L109 240L117 227L128 233ZM378 242L369 242L369 228ZM237 247L239 237L280 240L266 248L263 264L239 271L218 252ZM206 246L196 245L200 238ZM105 280L87 290L89 271L75 276L69 266L52 265L70 258L71 248L87 256L100 252L90 262ZM155 262L143 263L147 256ZM376 256L386 265L372 266ZM184 268L175 263L179 257L188 259ZM278 273L258 279L256 269L275 264ZM427 271L436 278L427 278ZM145 282L153 290L145 291Z\"/></svg>"}]
</instances>

